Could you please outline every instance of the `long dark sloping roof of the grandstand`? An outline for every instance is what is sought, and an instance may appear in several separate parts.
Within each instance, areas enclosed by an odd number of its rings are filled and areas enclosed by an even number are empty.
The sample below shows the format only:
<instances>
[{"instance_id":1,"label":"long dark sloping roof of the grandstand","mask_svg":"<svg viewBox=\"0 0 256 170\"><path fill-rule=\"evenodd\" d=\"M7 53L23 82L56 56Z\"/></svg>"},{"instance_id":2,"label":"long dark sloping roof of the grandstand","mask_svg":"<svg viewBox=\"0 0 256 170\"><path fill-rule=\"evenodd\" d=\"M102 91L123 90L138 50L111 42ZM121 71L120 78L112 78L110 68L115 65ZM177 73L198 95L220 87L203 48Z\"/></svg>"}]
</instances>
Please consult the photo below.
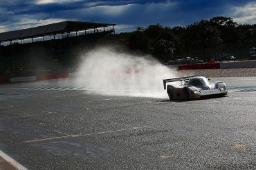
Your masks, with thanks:
<instances>
[{"instance_id":1,"label":"long dark sloping roof of the grandstand","mask_svg":"<svg viewBox=\"0 0 256 170\"><path fill-rule=\"evenodd\" d=\"M15 39L29 39L36 36L46 36L49 34L58 34L71 31L89 30L94 28L102 28L113 26L113 23L89 23L79 21L63 21L60 23L51 23L42 25L35 28L27 28L22 30L15 30L10 32L0 33L1 41L11 41Z\"/></svg>"}]
</instances>

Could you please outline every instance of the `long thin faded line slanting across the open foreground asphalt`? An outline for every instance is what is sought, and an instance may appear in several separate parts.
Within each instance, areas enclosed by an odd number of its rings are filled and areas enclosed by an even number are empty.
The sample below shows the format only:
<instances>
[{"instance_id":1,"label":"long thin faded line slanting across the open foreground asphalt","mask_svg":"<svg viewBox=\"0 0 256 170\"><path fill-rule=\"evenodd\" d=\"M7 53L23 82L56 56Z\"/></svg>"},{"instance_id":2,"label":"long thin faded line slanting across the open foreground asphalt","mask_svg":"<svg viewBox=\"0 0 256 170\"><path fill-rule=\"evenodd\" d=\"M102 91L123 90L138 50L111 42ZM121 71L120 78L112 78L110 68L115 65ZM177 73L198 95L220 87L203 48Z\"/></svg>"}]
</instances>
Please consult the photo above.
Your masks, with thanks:
<instances>
[{"instance_id":1,"label":"long thin faded line slanting across the open foreground asphalt","mask_svg":"<svg viewBox=\"0 0 256 170\"><path fill-rule=\"evenodd\" d=\"M117 131L129 131L129 130L136 130L136 129L143 129L143 128L150 128L150 127L133 127L129 129L120 129L120 130L115 130L115 131L101 131L98 133L93 133L93 134L77 134L77 135L67 135L67 136L58 136L58 137L53 137L53 138L42 138L42 139L35 139L35 140L26 140L24 142L42 142L46 140L55 140L55 139L61 139L61 138L76 138L76 137L81 137L81 136L93 136L93 135L98 135L98 134L108 134L108 133L113 133Z\"/></svg>"}]
</instances>

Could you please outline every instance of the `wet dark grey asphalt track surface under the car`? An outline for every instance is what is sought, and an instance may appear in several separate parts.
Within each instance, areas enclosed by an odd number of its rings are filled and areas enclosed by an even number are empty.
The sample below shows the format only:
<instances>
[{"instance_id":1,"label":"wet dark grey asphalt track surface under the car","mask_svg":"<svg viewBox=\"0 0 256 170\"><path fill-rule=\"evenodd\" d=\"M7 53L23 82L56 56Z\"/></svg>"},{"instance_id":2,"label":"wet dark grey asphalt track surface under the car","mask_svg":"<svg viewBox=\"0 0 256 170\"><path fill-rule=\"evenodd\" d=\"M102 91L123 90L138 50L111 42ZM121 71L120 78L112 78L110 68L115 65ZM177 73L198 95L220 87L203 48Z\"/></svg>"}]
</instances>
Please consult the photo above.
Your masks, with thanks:
<instances>
[{"instance_id":1,"label":"wet dark grey asphalt track surface under the car","mask_svg":"<svg viewBox=\"0 0 256 170\"><path fill-rule=\"evenodd\" d=\"M0 85L0 150L28 169L256 169L256 77L219 79L228 97L172 102Z\"/></svg>"}]
</instances>

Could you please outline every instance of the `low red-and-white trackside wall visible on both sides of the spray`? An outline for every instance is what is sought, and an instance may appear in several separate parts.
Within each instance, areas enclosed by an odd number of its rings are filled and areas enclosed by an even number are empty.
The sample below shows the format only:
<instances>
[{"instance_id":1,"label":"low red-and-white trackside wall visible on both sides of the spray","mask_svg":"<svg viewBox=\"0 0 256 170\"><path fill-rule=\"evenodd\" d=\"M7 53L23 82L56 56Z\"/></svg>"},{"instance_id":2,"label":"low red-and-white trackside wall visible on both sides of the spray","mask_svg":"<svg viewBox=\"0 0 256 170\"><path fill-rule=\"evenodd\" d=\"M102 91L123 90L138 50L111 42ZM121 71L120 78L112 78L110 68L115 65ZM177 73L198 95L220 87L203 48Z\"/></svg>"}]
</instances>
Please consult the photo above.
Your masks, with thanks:
<instances>
[{"instance_id":1,"label":"low red-and-white trackside wall visible on both sides of the spray","mask_svg":"<svg viewBox=\"0 0 256 170\"><path fill-rule=\"evenodd\" d=\"M230 69L230 68L256 68L256 61L236 61L236 62L221 62L221 63L203 63L203 64L189 64L189 65L168 65L167 67L173 70L198 70L198 69ZM57 78L77 77L80 73L64 73L64 74L48 74L40 76L26 76L4 78L0 76L0 83L14 83L27 81L44 81Z\"/></svg>"}]
</instances>

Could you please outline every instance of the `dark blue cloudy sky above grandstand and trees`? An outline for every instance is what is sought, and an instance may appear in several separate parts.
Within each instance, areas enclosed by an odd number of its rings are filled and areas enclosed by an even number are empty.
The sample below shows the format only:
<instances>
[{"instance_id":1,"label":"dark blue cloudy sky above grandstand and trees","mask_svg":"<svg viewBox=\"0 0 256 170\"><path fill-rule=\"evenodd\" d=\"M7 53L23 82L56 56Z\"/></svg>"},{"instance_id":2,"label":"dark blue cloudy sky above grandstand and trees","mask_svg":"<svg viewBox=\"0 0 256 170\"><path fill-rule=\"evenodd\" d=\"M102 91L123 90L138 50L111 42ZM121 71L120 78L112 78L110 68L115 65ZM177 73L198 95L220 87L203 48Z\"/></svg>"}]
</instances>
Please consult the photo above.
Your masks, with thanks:
<instances>
[{"instance_id":1,"label":"dark blue cloudy sky above grandstand and trees","mask_svg":"<svg viewBox=\"0 0 256 170\"><path fill-rule=\"evenodd\" d=\"M0 32L59 21L116 23L116 32L159 23L185 26L212 17L256 23L255 0L0 0Z\"/></svg>"}]
</instances>

